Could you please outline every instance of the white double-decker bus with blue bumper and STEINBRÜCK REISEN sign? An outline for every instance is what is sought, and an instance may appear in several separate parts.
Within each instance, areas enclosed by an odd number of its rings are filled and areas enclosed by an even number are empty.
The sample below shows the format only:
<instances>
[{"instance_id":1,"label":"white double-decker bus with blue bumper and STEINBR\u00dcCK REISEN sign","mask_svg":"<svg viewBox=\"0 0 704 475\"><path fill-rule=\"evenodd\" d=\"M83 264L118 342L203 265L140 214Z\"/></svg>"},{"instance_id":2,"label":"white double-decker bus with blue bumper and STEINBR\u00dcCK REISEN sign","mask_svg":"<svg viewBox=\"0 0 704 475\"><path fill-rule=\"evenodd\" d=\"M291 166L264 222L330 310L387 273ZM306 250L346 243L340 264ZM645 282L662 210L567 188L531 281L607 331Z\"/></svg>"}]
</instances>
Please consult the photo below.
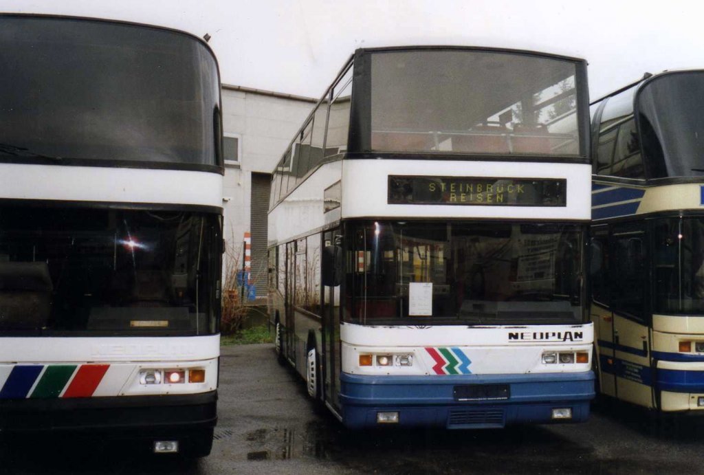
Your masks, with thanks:
<instances>
[{"instance_id":1,"label":"white double-decker bus with blue bumper and STEINBR\u00dcCK REISEN sign","mask_svg":"<svg viewBox=\"0 0 704 475\"><path fill-rule=\"evenodd\" d=\"M348 427L578 422L586 63L359 49L277 165L276 348Z\"/></svg>"}]
</instances>

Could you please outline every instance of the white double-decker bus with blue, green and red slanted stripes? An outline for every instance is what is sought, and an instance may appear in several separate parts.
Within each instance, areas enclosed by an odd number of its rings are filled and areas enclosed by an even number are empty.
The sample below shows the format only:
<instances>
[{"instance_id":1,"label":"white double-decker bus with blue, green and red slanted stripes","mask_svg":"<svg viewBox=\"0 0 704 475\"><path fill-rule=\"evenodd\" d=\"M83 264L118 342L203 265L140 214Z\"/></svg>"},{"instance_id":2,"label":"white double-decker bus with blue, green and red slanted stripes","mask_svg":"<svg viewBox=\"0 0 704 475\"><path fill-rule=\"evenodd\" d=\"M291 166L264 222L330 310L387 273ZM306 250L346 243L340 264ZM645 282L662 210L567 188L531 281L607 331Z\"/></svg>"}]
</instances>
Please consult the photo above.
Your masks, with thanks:
<instances>
[{"instance_id":1,"label":"white double-decker bus with blue, green and red slanted stripes","mask_svg":"<svg viewBox=\"0 0 704 475\"><path fill-rule=\"evenodd\" d=\"M0 15L0 431L207 455L222 159L205 42Z\"/></svg>"}]
</instances>

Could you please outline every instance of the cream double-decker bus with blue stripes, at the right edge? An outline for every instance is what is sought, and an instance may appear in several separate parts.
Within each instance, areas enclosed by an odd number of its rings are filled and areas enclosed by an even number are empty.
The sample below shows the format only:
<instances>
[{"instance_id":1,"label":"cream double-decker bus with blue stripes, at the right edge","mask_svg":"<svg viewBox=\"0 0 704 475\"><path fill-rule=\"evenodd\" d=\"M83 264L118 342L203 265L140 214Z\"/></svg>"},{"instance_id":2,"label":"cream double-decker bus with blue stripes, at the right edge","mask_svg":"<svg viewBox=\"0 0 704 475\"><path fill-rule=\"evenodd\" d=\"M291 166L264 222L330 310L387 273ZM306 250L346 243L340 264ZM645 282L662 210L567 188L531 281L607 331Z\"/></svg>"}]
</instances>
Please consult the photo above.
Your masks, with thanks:
<instances>
[{"instance_id":1,"label":"cream double-decker bus with blue stripes, at the right edge","mask_svg":"<svg viewBox=\"0 0 704 475\"><path fill-rule=\"evenodd\" d=\"M591 319L599 391L704 414L704 72L593 104Z\"/></svg>"}]
</instances>

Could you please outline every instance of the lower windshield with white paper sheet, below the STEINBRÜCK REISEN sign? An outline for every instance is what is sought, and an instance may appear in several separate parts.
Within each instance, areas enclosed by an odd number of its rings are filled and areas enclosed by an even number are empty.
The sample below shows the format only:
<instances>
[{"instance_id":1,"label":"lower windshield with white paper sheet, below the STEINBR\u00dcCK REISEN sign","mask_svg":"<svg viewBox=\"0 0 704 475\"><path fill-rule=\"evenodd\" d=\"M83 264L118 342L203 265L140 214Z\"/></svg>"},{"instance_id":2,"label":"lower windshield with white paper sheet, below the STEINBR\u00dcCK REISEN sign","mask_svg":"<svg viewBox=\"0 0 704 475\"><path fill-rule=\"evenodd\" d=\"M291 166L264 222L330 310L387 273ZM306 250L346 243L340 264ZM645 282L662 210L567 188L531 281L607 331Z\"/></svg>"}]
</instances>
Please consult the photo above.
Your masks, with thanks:
<instances>
[{"instance_id":1,"label":"lower windshield with white paper sheet, below the STEINBR\u00dcCK REISEN sign","mask_svg":"<svg viewBox=\"0 0 704 475\"><path fill-rule=\"evenodd\" d=\"M584 224L348 223L344 316L367 324L584 317Z\"/></svg>"}]
</instances>

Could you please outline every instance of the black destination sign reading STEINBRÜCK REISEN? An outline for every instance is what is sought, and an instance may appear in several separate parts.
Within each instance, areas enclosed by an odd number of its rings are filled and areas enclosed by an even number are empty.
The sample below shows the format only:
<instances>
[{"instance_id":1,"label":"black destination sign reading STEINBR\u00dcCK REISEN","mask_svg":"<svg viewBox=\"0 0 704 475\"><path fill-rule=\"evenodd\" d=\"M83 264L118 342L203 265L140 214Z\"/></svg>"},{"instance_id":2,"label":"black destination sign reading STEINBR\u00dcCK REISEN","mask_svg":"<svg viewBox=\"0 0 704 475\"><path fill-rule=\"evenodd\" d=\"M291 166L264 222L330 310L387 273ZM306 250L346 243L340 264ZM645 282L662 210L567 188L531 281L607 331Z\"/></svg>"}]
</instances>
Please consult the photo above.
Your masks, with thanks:
<instances>
[{"instance_id":1,"label":"black destination sign reading STEINBR\u00dcCK REISEN","mask_svg":"<svg viewBox=\"0 0 704 475\"><path fill-rule=\"evenodd\" d=\"M390 205L566 206L567 180L389 176Z\"/></svg>"}]
</instances>

